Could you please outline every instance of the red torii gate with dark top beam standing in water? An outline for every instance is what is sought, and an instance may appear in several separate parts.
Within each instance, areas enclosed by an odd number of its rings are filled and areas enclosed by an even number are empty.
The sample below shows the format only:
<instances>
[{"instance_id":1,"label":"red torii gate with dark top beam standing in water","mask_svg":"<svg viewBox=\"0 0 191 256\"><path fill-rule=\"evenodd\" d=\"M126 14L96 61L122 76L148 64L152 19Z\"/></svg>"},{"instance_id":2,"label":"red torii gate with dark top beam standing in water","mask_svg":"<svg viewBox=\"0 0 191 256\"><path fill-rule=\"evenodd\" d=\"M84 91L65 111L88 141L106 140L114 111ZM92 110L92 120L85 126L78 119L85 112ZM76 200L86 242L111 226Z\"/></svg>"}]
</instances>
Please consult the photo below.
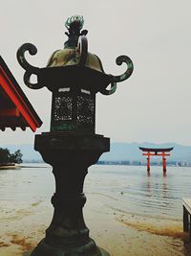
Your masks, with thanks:
<instances>
[{"instance_id":1,"label":"red torii gate with dark top beam standing in water","mask_svg":"<svg viewBox=\"0 0 191 256\"><path fill-rule=\"evenodd\" d=\"M139 147L140 151L142 152L142 155L147 156L147 172L150 172L150 156L161 156L162 157L162 167L163 167L163 173L166 173L166 157L165 156L170 156L170 151L172 151L173 148L159 148L159 149L154 149L154 148L142 148Z\"/></svg>"}]
</instances>

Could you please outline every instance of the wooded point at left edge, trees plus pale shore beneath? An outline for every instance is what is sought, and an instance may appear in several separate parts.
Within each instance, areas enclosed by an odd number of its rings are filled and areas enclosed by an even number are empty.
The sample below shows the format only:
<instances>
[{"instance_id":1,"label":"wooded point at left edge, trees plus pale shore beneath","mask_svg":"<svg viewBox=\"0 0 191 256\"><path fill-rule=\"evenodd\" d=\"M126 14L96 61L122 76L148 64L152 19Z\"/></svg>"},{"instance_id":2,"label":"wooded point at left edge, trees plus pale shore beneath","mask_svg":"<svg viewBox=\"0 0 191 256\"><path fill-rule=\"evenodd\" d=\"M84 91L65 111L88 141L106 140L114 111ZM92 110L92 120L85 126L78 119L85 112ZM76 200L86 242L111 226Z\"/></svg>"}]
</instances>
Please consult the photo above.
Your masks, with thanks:
<instances>
[{"instance_id":1,"label":"wooded point at left edge, trees plus pale shore beneath","mask_svg":"<svg viewBox=\"0 0 191 256\"><path fill-rule=\"evenodd\" d=\"M0 148L0 170L19 168L18 164L23 162L22 156L20 150L11 153L8 149Z\"/></svg>"}]
</instances>

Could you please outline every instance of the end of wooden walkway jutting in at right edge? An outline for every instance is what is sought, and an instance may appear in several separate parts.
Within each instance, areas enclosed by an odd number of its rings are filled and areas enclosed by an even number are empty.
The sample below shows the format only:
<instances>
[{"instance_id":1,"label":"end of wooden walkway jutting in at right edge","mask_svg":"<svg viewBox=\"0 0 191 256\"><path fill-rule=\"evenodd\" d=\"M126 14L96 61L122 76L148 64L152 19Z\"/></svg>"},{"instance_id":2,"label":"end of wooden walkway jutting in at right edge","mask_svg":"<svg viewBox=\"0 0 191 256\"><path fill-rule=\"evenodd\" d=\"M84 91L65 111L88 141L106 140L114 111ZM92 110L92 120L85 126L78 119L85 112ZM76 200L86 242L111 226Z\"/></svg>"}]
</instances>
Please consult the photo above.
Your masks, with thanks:
<instances>
[{"instance_id":1,"label":"end of wooden walkway jutting in at right edge","mask_svg":"<svg viewBox=\"0 0 191 256\"><path fill-rule=\"evenodd\" d=\"M182 198L183 231L189 232L191 239L191 198Z\"/></svg>"}]
</instances>

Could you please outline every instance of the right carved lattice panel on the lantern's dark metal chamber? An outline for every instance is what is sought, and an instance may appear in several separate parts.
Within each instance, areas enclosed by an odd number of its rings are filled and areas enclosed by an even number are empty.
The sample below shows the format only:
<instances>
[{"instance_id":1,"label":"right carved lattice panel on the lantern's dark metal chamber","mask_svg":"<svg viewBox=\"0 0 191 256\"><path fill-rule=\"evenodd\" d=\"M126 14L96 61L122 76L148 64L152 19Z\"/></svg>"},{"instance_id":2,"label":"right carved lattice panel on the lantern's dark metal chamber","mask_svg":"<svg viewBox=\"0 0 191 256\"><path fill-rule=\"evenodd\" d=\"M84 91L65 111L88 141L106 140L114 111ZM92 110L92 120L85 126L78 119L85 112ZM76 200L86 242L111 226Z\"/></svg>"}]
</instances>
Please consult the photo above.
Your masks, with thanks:
<instances>
[{"instance_id":1,"label":"right carved lattice panel on the lantern's dark metal chamber","mask_svg":"<svg viewBox=\"0 0 191 256\"><path fill-rule=\"evenodd\" d=\"M77 96L77 116L79 123L94 125L95 122L95 101L89 97Z\"/></svg>"}]
</instances>

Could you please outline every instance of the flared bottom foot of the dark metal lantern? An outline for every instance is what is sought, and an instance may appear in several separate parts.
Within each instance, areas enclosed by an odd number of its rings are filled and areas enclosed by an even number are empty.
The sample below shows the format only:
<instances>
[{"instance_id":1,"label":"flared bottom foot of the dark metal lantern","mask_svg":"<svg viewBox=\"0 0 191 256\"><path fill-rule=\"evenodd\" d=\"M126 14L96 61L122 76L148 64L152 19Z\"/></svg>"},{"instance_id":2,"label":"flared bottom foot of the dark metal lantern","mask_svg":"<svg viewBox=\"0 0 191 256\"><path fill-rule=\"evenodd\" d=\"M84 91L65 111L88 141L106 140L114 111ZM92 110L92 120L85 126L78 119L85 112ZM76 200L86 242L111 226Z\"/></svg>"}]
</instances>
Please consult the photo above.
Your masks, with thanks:
<instances>
[{"instance_id":1,"label":"flared bottom foot of the dark metal lantern","mask_svg":"<svg viewBox=\"0 0 191 256\"><path fill-rule=\"evenodd\" d=\"M77 247L54 247L46 244L42 240L32 252L25 252L23 256L110 256L110 254L103 248L97 247L94 240L90 240L88 244Z\"/></svg>"}]
</instances>

